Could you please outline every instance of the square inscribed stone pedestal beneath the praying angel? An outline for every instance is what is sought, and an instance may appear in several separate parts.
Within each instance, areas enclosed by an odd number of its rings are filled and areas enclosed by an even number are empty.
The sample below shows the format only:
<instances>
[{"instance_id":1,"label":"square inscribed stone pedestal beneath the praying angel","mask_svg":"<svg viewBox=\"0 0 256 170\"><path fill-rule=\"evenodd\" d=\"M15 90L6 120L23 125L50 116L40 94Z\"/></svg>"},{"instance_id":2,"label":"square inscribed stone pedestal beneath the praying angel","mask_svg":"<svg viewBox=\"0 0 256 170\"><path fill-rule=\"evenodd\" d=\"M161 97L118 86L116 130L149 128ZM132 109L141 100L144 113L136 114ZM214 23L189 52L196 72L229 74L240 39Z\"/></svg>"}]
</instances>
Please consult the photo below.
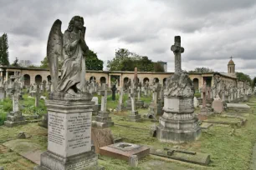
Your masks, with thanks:
<instances>
[{"instance_id":1,"label":"square inscribed stone pedestal beneath the praying angel","mask_svg":"<svg viewBox=\"0 0 256 170\"><path fill-rule=\"evenodd\" d=\"M90 101L47 100L48 150L34 170L98 169L91 145Z\"/></svg>"}]
</instances>

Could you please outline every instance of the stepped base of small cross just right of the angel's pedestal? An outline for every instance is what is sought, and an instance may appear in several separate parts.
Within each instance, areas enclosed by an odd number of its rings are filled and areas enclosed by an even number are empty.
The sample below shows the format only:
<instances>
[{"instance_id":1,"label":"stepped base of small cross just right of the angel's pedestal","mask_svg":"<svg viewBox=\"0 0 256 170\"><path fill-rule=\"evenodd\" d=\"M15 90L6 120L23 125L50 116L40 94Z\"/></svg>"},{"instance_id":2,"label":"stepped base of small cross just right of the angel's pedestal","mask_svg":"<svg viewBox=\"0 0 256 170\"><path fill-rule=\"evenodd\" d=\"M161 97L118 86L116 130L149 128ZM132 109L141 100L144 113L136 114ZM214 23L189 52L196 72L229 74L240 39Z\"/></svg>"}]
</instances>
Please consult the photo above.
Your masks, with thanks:
<instances>
[{"instance_id":1,"label":"stepped base of small cross just right of the angel's pedestal","mask_svg":"<svg viewBox=\"0 0 256 170\"><path fill-rule=\"evenodd\" d=\"M100 111L98 116L95 117L92 126L95 128L109 128L114 126L114 122L111 121L111 117L108 112Z\"/></svg>"}]
</instances>

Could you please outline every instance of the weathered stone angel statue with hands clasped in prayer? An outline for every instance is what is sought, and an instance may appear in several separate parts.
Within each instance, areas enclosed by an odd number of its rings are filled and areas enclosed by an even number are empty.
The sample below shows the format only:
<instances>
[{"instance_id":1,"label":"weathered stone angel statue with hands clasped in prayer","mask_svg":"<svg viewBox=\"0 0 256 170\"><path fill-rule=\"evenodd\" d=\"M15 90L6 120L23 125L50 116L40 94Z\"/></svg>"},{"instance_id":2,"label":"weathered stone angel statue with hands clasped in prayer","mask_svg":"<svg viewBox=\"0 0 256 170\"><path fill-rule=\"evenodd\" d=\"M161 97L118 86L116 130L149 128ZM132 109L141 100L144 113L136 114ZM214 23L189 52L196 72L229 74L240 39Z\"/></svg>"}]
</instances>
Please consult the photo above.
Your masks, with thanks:
<instances>
[{"instance_id":1,"label":"weathered stone angel statue with hands clasped in prayer","mask_svg":"<svg viewBox=\"0 0 256 170\"><path fill-rule=\"evenodd\" d=\"M85 91L85 53L89 50L85 30L84 18L74 16L64 34L59 19L49 32L47 57L54 94L78 96Z\"/></svg>"}]
</instances>

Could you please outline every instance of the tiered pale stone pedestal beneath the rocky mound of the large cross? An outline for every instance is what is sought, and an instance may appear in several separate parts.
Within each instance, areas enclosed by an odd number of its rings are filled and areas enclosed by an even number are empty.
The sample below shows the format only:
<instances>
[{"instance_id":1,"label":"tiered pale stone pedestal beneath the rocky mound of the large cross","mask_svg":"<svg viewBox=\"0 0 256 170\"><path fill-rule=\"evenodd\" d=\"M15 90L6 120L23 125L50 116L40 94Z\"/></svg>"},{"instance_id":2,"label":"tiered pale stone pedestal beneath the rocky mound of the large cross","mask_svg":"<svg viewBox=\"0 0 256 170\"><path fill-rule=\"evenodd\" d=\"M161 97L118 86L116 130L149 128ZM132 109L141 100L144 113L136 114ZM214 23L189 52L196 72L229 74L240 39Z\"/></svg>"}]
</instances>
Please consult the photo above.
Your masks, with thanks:
<instances>
[{"instance_id":1,"label":"tiered pale stone pedestal beneath the rocky mound of the large cross","mask_svg":"<svg viewBox=\"0 0 256 170\"><path fill-rule=\"evenodd\" d=\"M165 97L164 113L156 128L159 141L164 143L187 143L197 140L201 128L194 117L193 98Z\"/></svg>"}]
</instances>

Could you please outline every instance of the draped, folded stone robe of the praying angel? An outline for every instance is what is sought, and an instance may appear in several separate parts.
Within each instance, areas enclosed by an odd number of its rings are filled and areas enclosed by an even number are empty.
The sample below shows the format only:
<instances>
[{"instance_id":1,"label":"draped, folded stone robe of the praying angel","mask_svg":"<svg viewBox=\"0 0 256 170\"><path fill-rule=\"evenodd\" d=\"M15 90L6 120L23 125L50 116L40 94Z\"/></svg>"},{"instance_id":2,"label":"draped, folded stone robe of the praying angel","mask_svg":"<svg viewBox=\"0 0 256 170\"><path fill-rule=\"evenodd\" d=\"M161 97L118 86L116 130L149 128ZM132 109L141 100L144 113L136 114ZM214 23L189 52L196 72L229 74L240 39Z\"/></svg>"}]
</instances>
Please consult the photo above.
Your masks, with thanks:
<instances>
[{"instance_id":1,"label":"draped, folded stone robe of the praying angel","mask_svg":"<svg viewBox=\"0 0 256 170\"><path fill-rule=\"evenodd\" d=\"M78 43L72 50L70 43L78 40L80 33L65 31L63 36L63 57L64 63L61 67L59 80L59 91L67 92L70 87L76 86L80 91L85 82L85 58L81 44ZM86 46L86 45L85 45ZM86 46L86 49L88 47ZM79 84L79 86L77 86ZM76 89L76 88L74 88Z\"/></svg>"}]
</instances>

